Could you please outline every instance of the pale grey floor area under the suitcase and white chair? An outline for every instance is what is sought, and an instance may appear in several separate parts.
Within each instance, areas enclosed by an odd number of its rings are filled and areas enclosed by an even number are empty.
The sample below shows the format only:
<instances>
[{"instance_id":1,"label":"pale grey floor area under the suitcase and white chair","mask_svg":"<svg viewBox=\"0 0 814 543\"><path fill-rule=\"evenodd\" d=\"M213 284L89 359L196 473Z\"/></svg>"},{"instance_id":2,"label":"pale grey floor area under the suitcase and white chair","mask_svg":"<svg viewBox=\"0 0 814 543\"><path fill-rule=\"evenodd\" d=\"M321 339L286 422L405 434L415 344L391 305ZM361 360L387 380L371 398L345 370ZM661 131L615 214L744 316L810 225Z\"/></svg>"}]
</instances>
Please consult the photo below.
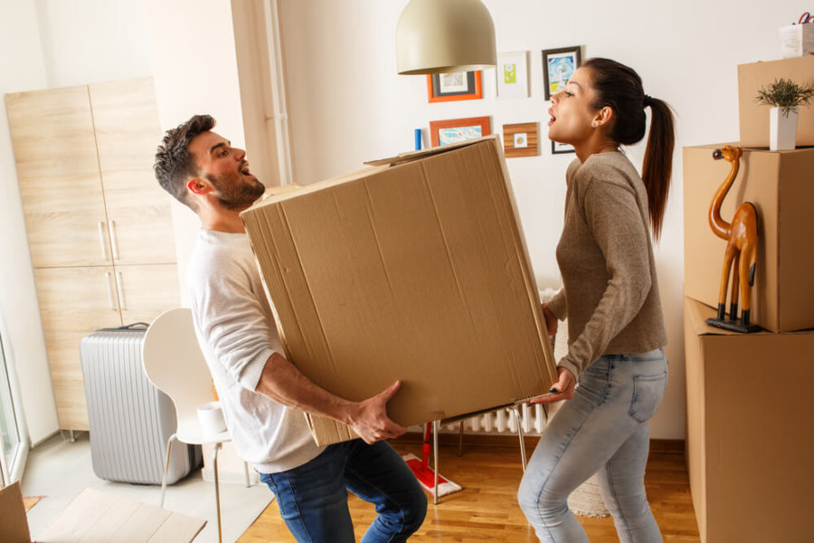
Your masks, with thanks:
<instances>
[{"instance_id":1,"label":"pale grey floor area under the suitcase and white chair","mask_svg":"<svg viewBox=\"0 0 814 543\"><path fill-rule=\"evenodd\" d=\"M90 462L88 433L78 433L76 443L58 435L35 447L29 453L22 486L24 495L44 496L28 511L33 540L74 496L88 487L156 507L161 500L160 485L135 485L99 479L93 473ZM273 495L262 483L246 488L245 482L221 481L220 488L223 541L233 543L269 505ZM206 526L195 538L195 543L217 543L214 484L204 481L200 470L167 487L164 507L206 520Z\"/></svg>"}]
</instances>

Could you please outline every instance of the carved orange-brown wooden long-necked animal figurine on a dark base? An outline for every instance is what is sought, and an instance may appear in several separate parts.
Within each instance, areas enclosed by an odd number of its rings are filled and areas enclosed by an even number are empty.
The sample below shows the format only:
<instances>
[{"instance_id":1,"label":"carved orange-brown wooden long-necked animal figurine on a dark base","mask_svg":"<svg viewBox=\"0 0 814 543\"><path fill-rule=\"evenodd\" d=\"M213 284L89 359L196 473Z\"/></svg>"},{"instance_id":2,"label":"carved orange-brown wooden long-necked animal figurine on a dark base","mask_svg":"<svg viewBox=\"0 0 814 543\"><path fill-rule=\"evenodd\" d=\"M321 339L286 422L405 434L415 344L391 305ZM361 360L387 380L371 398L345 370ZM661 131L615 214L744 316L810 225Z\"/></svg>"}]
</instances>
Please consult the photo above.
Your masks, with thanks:
<instances>
[{"instance_id":1,"label":"carved orange-brown wooden long-necked animal figurine on a dark base","mask_svg":"<svg viewBox=\"0 0 814 543\"><path fill-rule=\"evenodd\" d=\"M712 231L726 241L724 251L724 267L721 271L721 284L718 291L718 318L707 319L707 324L724 329L740 332L753 332L760 330L757 325L750 325L749 313L752 310L752 287L754 286L755 263L757 261L757 210L751 202L744 202L735 211L732 223L721 218L721 205L734 183L740 169L743 150L739 147L726 146L715 149L713 158L724 158L732 163L732 170L718 187L712 204L709 206L709 225ZM729 321L725 320L726 290L729 284L729 274L733 271L732 300L729 309ZM738 291L743 303L740 322L737 321Z\"/></svg>"}]
</instances>

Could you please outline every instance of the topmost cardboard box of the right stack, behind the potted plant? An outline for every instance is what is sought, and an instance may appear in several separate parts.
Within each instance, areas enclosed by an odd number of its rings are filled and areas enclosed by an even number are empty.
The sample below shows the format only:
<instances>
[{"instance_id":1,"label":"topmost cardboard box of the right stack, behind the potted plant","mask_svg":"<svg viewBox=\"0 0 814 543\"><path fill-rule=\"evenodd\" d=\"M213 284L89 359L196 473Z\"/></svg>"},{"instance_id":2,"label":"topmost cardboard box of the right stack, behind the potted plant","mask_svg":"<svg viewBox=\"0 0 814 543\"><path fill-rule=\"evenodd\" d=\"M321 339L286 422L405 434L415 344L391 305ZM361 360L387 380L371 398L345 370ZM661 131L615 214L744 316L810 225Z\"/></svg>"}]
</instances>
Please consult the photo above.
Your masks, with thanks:
<instances>
[{"instance_id":1,"label":"topmost cardboard box of the right stack, behind the potted plant","mask_svg":"<svg viewBox=\"0 0 814 543\"><path fill-rule=\"evenodd\" d=\"M814 85L814 56L738 65L738 112L743 147L769 147L770 107L754 99L762 86L781 78L800 85ZM814 104L800 108L797 145L814 145Z\"/></svg>"}]
</instances>

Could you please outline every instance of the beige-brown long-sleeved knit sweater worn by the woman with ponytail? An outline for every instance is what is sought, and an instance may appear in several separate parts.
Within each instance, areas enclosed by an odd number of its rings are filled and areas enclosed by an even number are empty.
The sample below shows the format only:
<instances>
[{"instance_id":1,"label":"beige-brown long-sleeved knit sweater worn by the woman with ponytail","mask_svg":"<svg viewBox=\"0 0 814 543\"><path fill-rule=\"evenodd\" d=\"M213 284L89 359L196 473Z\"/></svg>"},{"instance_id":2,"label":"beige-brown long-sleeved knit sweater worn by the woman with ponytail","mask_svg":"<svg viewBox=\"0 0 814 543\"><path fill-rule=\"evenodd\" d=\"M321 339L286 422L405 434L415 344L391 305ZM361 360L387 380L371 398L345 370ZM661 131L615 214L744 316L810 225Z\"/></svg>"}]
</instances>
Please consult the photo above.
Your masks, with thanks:
<instances>
[{"instance_id":1,"label":"beige-brown long-sleeved knit sweater worn by the woman with ponytail","mask_svg":"<svg viewBox=\"0 0 814 543\"><path fill-rule=\"evenodd\" d=\"M548 304L568 318L574 376L603 354L667 344L648 228L648 195L621 153L574 160L566 173L565 224L557 245L563 290Z\"/></svg>"}]
</instances>

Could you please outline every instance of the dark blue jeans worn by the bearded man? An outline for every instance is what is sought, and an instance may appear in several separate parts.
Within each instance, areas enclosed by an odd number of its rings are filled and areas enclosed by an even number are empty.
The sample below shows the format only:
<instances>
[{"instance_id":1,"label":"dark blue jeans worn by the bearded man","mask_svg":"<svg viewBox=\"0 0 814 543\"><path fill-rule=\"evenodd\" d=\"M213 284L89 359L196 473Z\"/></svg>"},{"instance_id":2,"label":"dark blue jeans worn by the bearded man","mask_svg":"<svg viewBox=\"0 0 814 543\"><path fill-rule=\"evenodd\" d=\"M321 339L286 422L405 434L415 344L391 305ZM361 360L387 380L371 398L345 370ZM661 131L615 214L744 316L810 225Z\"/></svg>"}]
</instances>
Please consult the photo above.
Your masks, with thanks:
<instances>
[{"instance_id":1,"label":"dark blue jeans worn by the bearded man","mask_svg":"<svg viewBox=\"0 0 814 543\"><path fill-rule=\"evenodd\" d=\"M427 513L421 485L384 442L329 445L314 460L288 472L262 473L260 481L274 492L280 516L300 543L355 543L347 491L379 513L363 543L406 541Z\"/></svg>"}]
</instances>

